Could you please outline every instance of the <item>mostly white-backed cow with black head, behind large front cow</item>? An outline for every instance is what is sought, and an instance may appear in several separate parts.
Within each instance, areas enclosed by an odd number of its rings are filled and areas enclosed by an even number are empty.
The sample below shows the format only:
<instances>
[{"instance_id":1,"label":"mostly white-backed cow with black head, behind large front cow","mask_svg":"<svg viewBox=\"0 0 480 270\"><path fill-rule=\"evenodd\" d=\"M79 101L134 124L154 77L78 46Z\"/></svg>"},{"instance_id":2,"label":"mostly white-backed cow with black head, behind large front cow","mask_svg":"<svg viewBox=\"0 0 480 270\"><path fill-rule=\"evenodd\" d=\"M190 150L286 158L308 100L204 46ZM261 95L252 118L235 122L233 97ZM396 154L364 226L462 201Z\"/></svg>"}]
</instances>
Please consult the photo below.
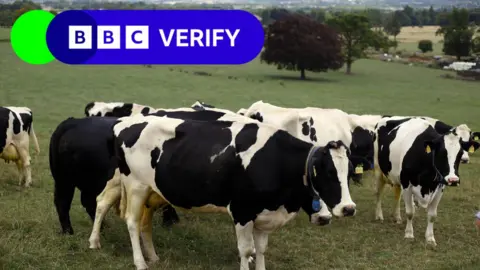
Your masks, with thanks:
<instances>
[{"instance_id":1,"label":"mostly white-backed cow with black head, behind large front cow","mask_svg":"<svg viewBox=\"0 0 480 270\"><path fill-rule=\"evenodd\" d=\"M239 113L269 124L281 122L285 116L296 113L299 115L297 138L319 145L330 140L346 143L352 151L355 172L351 178L355 182L360 182L364 170L373 168L373 130L381 116L349 115L339 109L284 108L261 100Z\"/></svg>"}]
</instances>

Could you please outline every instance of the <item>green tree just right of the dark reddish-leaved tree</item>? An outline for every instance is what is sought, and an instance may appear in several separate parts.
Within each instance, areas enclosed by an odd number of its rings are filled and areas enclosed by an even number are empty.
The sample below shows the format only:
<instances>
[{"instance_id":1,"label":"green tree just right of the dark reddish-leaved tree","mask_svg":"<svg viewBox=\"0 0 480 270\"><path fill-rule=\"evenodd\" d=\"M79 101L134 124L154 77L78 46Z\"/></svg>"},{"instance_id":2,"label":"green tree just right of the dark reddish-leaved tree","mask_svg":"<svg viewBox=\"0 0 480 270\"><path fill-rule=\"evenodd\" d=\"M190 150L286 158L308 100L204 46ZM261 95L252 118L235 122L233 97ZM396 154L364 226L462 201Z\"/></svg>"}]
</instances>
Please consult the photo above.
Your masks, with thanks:
<instances>
[{"instance_id":1,"label":"green tree just right of the dark reddish-leaved tree","mask_svg":"<svg viewBox=\"0 0 480 270\"><path fill-rule=\"evenodd\" d=\"M370 23L366 16L354 13L342 13L328 21L339 33L342 34L344 47L345 63L347 65L346 73L352 71L353 62L363 57L365 49L372 45L374 36L370 29Z\"/></svg>"}]
</instances>

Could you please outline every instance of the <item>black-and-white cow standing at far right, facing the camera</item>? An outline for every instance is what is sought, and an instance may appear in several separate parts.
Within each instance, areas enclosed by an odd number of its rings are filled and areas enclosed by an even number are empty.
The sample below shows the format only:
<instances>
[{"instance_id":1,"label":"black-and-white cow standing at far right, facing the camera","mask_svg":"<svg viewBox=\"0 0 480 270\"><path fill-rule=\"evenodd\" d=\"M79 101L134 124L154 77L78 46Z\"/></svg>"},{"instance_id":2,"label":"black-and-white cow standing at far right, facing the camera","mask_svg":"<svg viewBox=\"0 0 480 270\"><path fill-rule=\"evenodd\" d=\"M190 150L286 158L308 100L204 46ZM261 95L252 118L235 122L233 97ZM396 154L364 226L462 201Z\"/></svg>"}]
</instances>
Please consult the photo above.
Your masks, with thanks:
<instances>
[{"instance_id":1,"label":"black-and-white cow standing at far right, facing the camera","mask_svg":"<svg viewBox=\"0 0 480 270\"><path fill-rule=\"evenodd\" d=\"M414 199L428 211L426 242L436 246L433 224L445 186L460 184L459 163L463 150L478 149L479 143L463 141L450 130L441 134L427 120L415 117L384 118L375 130L376 220L383 220L381 196L386 183L396 191L395 219L401 223L403 192L407 226L405 238L414 238Z\"/></svg>"}]
</instances>

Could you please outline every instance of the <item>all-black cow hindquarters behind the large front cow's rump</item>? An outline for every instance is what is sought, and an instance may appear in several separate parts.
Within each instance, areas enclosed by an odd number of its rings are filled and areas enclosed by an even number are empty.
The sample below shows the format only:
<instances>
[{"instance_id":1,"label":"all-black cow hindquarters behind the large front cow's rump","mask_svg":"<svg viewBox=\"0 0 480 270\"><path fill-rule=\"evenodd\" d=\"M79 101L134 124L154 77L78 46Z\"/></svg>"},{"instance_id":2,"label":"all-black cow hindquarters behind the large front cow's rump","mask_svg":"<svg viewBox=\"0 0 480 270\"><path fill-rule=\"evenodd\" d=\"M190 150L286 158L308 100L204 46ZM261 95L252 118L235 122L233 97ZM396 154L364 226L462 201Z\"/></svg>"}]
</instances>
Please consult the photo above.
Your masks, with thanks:
<instances>
[{"instance_id":1,"label":"all-black cow hindquarters behind the large front cow's rump","mask_svg":"<svg viewBox=\"0 0 480 270\"><path fill-rule=\"evenodd\" d=\"M64 234L73 234L69 212L75 188L80 190L81 203L94 221L96 198L107 181L114 178L117 163L111 144L112 127L117 119L70 117L57 126L50 138L54 203Z\"/></svg>"}]
</instances>

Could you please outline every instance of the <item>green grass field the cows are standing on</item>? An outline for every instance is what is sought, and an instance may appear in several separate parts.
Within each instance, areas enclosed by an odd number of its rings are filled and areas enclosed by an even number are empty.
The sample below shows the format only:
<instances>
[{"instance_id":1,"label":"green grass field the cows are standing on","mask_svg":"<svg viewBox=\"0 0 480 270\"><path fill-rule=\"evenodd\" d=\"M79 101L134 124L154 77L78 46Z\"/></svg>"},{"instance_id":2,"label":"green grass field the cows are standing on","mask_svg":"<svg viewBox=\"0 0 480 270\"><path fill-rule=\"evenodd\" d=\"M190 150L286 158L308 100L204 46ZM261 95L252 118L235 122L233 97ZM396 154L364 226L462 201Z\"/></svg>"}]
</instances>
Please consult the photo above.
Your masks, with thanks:
<instances>
[{"instance_id":1,"label":"green grass field the cows are standing on","mask_svg":"<svg viewBox=\"0 0 480 270\"><path fill-rule=\"evenodd\" d=\"M79 202L71 210L73 236L60 236L48 166L50 135L60 121L81 117L92 100L130 101L155 107L189 106L196 99L236 111L257 100L280 106L340 108L352 113L428 115L480 130L480 88L476 83L439 78L442 71L361 60L352 76L343 72L278 71L259 61L243 66L160 67L33 66L21 62L10 44L0 44L0 100L28 106L41 153L32 153L33 187L18 186L13 164L0 164L0 268L134 269L126 224L107 216L102 249L88 249L91 221ZM181 70L181 71L180 71ZM194 75L207 71L211 77ZM229 79L230 76L230 79ZM235 79L236 78L236 79ZM461 166L462 185L447 188L435 224L436 250L426 249L425 211L414 220L415 241L403 239L405 225L393 223L393 192L384 200L385 222L374 221L371 178L352 186L358 215L310 225L301 213L270 236L267 269L478 269L479 237L473 215L479 207L480 158ZM402 213L403 203L402 203ZM221 214L180 213L171 230L154 219L154 244L160 261L152 269L238 269L231 220ZM404 217L405 219L405 217Z\"/></svg>"}]
</instances>

